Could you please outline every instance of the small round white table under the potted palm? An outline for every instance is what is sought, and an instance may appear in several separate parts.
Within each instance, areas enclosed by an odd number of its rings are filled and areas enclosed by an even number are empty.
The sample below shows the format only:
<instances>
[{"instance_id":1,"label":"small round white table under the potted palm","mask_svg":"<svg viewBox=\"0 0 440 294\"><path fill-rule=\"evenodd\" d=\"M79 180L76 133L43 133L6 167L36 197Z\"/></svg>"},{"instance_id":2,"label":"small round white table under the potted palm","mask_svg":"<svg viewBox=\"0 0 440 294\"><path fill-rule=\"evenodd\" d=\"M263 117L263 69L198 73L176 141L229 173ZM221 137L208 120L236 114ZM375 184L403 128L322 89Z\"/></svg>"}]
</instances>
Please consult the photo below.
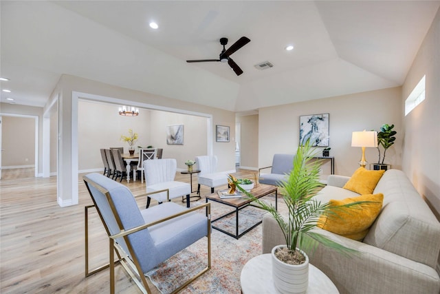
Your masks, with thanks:
<instances>
[{"instance_id":1,"label":"small round white table under the potted palm","mask_svg":"<svg viewBox=\"0 0 440 294\"><path fill-rule=\"evenodd\" d=\"M279 293L272 279L272 256L258 255L248 261L241 270L241 293ZM309 287L307 294L339 294L338 288L320 269L309 264Z\"/></svg>"}]
</instances>

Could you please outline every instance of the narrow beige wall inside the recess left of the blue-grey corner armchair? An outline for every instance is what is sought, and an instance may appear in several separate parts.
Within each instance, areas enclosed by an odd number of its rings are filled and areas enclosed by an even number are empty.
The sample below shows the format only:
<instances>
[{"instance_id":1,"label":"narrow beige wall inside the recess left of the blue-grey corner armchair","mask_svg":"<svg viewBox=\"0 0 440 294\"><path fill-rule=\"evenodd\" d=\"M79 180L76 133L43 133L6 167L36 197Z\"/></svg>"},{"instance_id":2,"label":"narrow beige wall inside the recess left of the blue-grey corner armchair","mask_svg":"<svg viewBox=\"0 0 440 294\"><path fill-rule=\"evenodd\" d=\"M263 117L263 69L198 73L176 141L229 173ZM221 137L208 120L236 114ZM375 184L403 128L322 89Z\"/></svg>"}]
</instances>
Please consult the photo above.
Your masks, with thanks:
<instances>
[{"instance_id":1,"label":"narrow beige wall inside the recess left of the blue-grey corner armchair","mask_svg":"<svg viewBox=\"0 0 440 294\"><path fill-rule=\"evenodd\" d=\"M241 125L240 165L245 169L259 168L259 116L237 116Z\"/></svg>"}]
</instances>

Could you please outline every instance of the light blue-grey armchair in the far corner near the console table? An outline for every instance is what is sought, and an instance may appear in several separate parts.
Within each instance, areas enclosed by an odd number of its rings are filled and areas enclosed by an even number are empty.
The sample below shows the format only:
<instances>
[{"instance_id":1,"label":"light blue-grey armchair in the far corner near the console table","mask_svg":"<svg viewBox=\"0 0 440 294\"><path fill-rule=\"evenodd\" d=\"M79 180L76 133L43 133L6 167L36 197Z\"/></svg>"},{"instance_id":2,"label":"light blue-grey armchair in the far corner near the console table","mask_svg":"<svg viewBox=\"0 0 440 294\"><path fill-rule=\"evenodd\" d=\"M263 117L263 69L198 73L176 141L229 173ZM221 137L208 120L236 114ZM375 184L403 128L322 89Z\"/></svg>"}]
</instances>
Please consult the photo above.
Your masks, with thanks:
<instances>
[{"instance_id":1,"label":"light blue-grey armchair in the far corner near the console table","mask_svg":"<svg viewBox=\"0 0 440 294\"><path fill-rule=\"evenodd\" d=\"M295 154L274 154L270 167L259 169L259 183L273 186L280 186L280 183L287 180L294 167ZM270 174L261 174L262 169L271 169Z\"/></svg>"}]
</instances>

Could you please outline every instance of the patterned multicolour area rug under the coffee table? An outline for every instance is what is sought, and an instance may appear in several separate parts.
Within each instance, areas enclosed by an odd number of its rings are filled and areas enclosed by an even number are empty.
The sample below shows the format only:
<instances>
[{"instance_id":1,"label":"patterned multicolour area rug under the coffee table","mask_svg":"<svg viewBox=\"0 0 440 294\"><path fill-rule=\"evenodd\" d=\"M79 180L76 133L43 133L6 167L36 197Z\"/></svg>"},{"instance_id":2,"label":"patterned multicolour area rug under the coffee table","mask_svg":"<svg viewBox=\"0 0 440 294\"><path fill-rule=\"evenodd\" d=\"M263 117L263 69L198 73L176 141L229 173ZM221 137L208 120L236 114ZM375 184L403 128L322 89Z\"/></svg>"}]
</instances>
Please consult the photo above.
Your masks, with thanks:
<instances>
[{"instance_id":1,"label":"patterned multicolour area rug under the coffee table","mask_svg":"<svg viewBox=\"0 0 440 294\"><path fill-rule=\"evenodd\" d=\"M274 196L265 199L274 202ZM278 198L278 207L279 201ZM282 202L282 201L281 201ZM212 218L217 218L230 211L230 207L212 203ZM265 211L249 207L239 213L239 232L246 229L248 224L261 220ZM226 231L235 232L235 216L228 216L214 224ZM243 224L243 226L242 226ZM261 225L245 233L239 240L212 229L211 233L211 269L197 280L186 286L180 293L241 293L241 269L248 260L261 254ZM206 238L192 244L187 249L169 258L163 264L149 271L148 276L161 291L170 293L182 281L188 280L207 265Z\"/></svg>"}]
</instances>

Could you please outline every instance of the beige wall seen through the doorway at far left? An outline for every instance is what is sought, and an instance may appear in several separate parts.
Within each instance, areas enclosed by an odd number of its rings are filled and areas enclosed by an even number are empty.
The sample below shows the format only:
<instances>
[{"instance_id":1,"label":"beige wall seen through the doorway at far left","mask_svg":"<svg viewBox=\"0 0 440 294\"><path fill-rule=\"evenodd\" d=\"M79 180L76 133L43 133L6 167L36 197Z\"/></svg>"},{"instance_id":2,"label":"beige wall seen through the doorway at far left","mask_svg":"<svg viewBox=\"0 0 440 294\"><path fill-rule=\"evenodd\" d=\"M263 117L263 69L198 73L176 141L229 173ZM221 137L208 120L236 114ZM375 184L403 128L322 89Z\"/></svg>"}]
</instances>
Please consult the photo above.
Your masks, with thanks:
<instances>
[{"instance_id":1,"label":"beige wall seen through the doorway at far left","mask_svg":"<svg viewBox=\"0 0 440 294\"><path fill-rule=\"evenodd\" d=\"M35 119L3 116L1 167L35 165Z\"/></svg>"}]
</instances>

